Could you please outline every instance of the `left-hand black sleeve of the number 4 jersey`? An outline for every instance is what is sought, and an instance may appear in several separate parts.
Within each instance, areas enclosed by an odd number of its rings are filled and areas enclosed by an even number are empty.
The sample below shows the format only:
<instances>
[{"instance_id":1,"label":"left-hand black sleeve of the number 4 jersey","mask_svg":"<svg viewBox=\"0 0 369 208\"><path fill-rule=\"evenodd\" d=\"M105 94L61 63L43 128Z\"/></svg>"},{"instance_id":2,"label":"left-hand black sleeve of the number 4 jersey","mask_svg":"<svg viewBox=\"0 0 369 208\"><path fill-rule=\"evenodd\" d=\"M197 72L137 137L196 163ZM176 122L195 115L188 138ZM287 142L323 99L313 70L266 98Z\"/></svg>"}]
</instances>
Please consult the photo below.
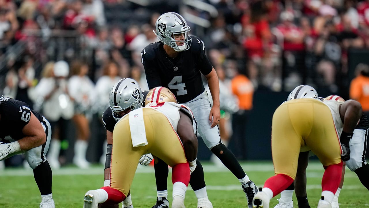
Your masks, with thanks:
<instances>
[{"instance_id":1,"label":"left-hand black sleeve of the number 4 jersey","mask_svg":"<svg viewBox=\"0 0 369 208\"><path fill-rule=\"evenodd\" d=\"M146 81L149 89L161 86L161 79L159 73L156 70L156 64L153 61L155 59L155 52L149 46L146 46L144 50L141 51L141 63L145 68Z\"/></svg>"}]
</instances>

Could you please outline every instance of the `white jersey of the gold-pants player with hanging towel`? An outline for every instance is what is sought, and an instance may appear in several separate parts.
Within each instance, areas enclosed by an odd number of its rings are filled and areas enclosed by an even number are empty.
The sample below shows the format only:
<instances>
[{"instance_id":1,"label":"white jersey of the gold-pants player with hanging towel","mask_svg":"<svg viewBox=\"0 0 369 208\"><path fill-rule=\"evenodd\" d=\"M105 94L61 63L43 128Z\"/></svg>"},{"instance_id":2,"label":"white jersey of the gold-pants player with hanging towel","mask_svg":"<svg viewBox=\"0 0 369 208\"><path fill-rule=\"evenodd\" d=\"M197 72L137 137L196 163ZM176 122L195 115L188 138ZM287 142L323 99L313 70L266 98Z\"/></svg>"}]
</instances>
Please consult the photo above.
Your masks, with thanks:
<instances>
[{"instance_id":1,"label":"white jersey of the gold-pants player with hanging towel","mask_svg":"<svg viewBox=\"0 0 369 208\"><path fill-rule=\"evenodd\" d=\"M193 127L193 132L197 133L197 125L196 122L194 121L194 116L192 114L192 111L189 107L187 107L186 105L183 104L178 104L178 103L173 103L173 102L165 102L163 105L156 105L156 106L149 106L148 108L154 108L155 110L161 112L162 114L164 114L170 124L172 124L173 129L175 131L177 131L177 127L178 127L178 121L179 121L179 110L183 109L183 113L187 113L187 115L189 115L189 117L192 118L192 127Z\"/></svg>"}]
</instances>

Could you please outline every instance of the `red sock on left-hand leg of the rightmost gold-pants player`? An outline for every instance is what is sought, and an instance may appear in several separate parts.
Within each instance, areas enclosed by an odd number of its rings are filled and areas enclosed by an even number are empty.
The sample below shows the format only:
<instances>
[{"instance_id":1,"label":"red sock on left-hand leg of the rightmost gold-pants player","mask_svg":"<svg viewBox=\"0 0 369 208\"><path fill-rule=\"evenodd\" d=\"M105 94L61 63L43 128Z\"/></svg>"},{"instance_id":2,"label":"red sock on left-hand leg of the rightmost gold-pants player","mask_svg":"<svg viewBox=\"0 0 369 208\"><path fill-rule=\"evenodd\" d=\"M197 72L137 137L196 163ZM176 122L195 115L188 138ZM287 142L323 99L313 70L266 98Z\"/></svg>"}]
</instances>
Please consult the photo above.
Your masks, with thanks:
<instances>
[{"instance_id":1,"label":"red sock on left-hand leg of the rightmost gold-pants player","mask_svg":"<svg viewBox=\"0 0 369 208\"><path fill-rule=\"evenodd\" d=\"M268 178L264 183L264 188L270 188L273 191L273 197L285 190L293 183L293 178L284 174L277 174Z\"/></svg>"}]
</instances>

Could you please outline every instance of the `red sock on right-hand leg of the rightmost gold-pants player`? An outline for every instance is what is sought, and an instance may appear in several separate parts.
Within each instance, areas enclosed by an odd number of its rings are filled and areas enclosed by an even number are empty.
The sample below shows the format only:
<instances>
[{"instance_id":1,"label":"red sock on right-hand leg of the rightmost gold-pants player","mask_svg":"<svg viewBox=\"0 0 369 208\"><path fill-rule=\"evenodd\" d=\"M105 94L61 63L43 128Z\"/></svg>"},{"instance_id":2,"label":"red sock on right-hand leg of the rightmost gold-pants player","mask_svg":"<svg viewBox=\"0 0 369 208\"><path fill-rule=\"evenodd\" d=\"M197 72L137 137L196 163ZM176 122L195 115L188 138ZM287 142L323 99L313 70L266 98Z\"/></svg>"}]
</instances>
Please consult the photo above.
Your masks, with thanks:
<instances>
[{"instance_id":1,"label":"red sock on right-hand leg of the rightmost gold-pants player","mask_svg":"<svg viewBox=\"0 0 369 208\"><path fill-rule=\"evenodd\" d=\"M322 190L331 191L333 194L337 191L342 178L343 162L335 165L324 166L325 171L322 179Z\"/></svg>"}]
</instances>

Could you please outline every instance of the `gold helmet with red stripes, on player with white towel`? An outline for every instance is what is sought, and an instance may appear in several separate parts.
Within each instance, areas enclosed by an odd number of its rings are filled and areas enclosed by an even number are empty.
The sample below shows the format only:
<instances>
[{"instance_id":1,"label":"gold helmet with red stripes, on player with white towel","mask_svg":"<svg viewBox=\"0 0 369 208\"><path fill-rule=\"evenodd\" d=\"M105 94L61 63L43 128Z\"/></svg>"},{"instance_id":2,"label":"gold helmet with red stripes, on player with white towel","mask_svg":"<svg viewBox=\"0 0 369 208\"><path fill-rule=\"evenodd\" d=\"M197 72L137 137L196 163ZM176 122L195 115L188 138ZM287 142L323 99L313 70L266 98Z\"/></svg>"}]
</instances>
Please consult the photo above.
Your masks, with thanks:
<instances>
[{"instance_id":1,"label":"gold helmet with red stripes, on player with white towel","mask_svg":"<svg viewBox=\"0 0 369 208\"><path fill-rule=\"evenodd\" d=\"M164 102L177 103L176 96L166 87L152 88L146 95L145 107L150 105L157 105Z\"/></svg>"}]
</instances>

